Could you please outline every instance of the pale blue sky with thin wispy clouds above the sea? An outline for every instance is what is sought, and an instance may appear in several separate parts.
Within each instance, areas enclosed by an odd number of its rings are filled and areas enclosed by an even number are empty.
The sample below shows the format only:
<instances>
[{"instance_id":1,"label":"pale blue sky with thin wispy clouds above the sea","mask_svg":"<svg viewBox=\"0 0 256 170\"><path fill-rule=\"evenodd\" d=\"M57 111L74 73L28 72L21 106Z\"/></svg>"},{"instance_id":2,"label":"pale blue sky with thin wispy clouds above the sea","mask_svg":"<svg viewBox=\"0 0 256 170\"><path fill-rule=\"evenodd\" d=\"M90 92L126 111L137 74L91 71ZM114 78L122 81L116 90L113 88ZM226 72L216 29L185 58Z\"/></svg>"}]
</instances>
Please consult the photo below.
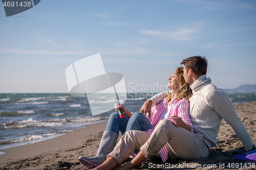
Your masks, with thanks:
<instances>
[{"instance_id":1,"label":"pale blue sky with thin wispy clouds above the sea","mask_svg":"<svg viewBox=\"0 0 256 170\"><path fill-rule=\"evenodd\" d=\"M127 92L166 90L198 55L217 87L256 84L256 1L42 0L9 17L0 7L0 93L68 93L67 67L98 53Z\"/></svg>"}]
</instances>

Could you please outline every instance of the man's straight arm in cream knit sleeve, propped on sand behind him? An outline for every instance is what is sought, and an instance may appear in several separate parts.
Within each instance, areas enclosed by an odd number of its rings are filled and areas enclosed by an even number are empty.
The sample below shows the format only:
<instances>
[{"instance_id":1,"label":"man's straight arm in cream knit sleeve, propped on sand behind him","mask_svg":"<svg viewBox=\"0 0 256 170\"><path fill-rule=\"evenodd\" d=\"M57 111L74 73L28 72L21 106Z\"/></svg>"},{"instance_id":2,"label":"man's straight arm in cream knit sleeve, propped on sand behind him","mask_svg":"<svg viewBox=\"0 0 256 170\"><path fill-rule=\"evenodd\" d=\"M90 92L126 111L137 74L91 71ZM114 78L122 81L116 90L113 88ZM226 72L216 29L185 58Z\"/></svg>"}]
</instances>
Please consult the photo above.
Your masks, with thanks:
<instances>
[{"instance_id":1,"label":"man's straight arm in cream knit sleeve, propped on sand behind him","mask_svg":"<svg viewBox=\"0 0 256 170\"><path fill-rule=\"evenodd\" d=\"M233 103L222 89L211 90L207 94L209 105L232 127L247 151L253 148L251 138L246 131L241 119L238 117Z\"/></svg>"}]
</instances>

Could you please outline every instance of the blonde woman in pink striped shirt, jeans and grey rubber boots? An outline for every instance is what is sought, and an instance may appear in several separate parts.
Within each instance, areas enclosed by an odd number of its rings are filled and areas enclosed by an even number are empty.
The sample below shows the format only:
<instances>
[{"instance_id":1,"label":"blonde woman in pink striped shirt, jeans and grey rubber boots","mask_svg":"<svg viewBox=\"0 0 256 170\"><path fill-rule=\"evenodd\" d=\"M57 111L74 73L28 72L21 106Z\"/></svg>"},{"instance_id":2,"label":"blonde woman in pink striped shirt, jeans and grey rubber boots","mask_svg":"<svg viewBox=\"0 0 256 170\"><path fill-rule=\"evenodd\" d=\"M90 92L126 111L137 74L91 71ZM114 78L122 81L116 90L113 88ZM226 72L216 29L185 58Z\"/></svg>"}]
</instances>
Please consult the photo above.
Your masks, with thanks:
<instances>
[{"instance_id":1,"label":"blonde woman in pink striped shirt, jeans and grey rubber boots","mask_svg":"<svg viewBox=\"0 0 256 170\"><path fill-rule=\"evenodd\" d=\"M146 131L151 135L160 120L164 118L170 119L176 127L183 127L193 133L188 114L189 105L187 100L192 95L192 92L185 84L183 67L175 69L172 77L168 78L168 80L167 87L171 92L167 98L152 107L151 117L148 117L148 114L144 116L139 112L132 114L122 106L121 108L125 117L120 119L119 113L117 112L111 114L106 131L103 133L100 141L97 155L93 158L81 156L79 157L79 162L89 168L98 166L105 161L106 155L113 151L118 132L123 135L125 131L140 130ZM159 151L163 161L167 159L166 153L167 145Z\"/></svg>"}]
</instances>

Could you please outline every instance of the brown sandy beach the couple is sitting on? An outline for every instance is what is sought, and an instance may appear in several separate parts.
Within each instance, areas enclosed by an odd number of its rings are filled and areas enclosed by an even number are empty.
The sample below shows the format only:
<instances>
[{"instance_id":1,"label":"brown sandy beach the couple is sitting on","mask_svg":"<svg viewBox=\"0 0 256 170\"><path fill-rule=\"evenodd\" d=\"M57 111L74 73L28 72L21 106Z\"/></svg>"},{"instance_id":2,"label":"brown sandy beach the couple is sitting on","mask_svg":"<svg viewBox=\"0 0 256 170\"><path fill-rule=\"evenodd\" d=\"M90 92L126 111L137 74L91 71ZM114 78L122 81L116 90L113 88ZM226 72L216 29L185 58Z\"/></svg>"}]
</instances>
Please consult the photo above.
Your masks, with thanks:
<instances>
[{"instance_id":1,"label":"brown sandy beach the couple is sitting on","mask_svg":"<svg viewBox=\"0 0 256 170\"><path fill-rule=\"evenodd\" d=\"M256 102L235 104L235 107L255 144ZM50 140L1 150L0 152L6 152L6 154L0 155L0 169L87 169L79 164L78 157L96 155L105 127L106 123L88 125L83 129L74 130ZM243 166L247 165L246 169L255 169L255 166L248 168L249 163L255 165L255 161L232 159L233 156L246 151L237 135L224 120L222 120L217 143L206 159L191 161L175 159L163 163L161 158L153 157L147 159L137 169L165 169L164 165L167 164L169 167L176 165L176 169L200 169L198 165L201 165L201 168L206 165L207 169L230 169L228 165L234 165L234 168L238 165L236 169L244 169ZM130 160L130 158L127 159L127 161ZM157 168L157 165L161 164L162 167Z\"/></svg>"}]
</instances>

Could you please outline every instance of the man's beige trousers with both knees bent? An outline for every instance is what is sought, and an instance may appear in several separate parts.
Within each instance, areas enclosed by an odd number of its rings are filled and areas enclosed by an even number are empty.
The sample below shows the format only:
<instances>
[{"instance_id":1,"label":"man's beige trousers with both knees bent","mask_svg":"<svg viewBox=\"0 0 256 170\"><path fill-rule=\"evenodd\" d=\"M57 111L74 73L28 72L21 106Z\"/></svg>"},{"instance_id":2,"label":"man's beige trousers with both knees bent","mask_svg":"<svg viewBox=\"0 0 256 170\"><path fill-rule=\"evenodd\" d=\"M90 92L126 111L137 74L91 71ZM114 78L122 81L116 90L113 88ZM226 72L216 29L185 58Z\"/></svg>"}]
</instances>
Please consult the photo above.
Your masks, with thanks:
<instances>
[{"instance_id":1,"label":"man's beige trousers with both knees bent","mask_svg":"<svg viewBox=\"0 0 256 170\"><path fill-rule=\"evenodd\" d=\"M156 126L152 135L143 131L127 131L108 155L122 164L135 149L141 150L145 158L159 156L158 151L169 143L168 158L180 157L184 160L206 158L209 151L203 142L203 135L191 133L184 128L177 128L168 119L163 119Z\"/></svg>"}]
</instances>

